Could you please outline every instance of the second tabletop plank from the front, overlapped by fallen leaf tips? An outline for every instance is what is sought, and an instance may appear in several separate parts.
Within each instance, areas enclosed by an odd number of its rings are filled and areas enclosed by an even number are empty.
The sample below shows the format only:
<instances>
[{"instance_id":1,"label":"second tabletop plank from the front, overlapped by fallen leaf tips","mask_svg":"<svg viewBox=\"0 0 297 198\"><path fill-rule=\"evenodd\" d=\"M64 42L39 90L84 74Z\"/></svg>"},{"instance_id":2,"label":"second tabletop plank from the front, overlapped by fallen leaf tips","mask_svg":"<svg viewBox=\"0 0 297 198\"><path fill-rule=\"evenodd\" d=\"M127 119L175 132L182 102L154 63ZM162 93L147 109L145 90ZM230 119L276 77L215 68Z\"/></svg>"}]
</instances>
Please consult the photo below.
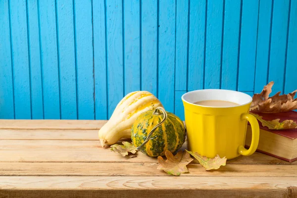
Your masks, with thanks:
<instances>
[{"instance_id":1,"label":"second tabletop plank from the front, overlapped by fallen leaf tips","mask_svg":"<svg viewBox=\"0 0 297 198\"><path fill-rule=\"evenodd\" d=\"M158 163L23 163L0 162L0 176L166 176ZM187 165L182 177L297 177L297 165L227 164L205 171L200 164ZM228 180L228 179L226 179Z\"/></svg>"}]
</instances>

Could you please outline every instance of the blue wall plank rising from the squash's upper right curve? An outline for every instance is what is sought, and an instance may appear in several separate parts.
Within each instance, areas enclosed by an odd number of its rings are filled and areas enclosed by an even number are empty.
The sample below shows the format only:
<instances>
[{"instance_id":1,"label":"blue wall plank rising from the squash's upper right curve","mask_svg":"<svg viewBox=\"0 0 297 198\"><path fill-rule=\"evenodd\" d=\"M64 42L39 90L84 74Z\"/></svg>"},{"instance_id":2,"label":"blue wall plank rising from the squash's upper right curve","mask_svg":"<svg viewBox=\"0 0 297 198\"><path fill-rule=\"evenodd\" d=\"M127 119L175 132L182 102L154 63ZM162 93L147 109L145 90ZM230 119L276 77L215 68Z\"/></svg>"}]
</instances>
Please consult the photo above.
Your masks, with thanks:
<instances>
[{"instance_id":1,"label":"blue wall plank rising from the squash's upper right curve","mask_svg":"<svg viewBox=\"0 0 297 198\"><path fill-rule=\"evenodd\" d=\"M157 0L141 1L141 89L157 96Z\"/></svg>"}]
</instances>

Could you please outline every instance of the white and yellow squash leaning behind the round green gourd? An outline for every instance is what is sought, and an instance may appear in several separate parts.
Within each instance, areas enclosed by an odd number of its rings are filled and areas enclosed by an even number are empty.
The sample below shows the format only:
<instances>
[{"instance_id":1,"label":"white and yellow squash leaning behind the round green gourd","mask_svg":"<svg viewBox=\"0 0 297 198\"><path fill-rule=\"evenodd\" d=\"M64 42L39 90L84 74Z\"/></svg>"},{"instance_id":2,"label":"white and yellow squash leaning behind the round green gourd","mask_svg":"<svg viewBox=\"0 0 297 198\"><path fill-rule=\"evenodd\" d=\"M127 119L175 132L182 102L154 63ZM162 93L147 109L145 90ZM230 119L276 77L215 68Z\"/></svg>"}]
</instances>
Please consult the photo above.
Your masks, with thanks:
<instances>
[{"instance_id":1,"label":"white and yellow squash leaning behind the round green gourd","mask_svg":"<svg viewBox=\"0 0 297 198\"><path fill-rule=\"evenodd\" d=\"M131 127L145 111L162 106L161 102L147 91L127 94L115 107L108 122L99 130L101 146L113 145L122 138L131 138Z\"/></svg>"}]
</instances>

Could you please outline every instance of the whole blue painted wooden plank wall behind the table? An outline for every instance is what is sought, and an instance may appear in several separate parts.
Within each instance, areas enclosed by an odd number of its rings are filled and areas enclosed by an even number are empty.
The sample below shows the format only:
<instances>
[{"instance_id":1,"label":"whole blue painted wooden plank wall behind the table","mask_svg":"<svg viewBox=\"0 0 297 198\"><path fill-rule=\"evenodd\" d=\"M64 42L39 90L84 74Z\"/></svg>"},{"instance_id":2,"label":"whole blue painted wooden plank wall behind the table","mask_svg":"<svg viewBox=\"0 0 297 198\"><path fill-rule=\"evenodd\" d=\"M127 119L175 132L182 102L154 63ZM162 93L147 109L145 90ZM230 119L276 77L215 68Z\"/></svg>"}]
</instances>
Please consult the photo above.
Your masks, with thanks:
<instances>
[{"instance_id":1,"label":"whole blue painted wooden plank wall behind the table","mask_svg":"<svg viewBox=\"0 0 297 198\"><path fill-rule=\"evenodd\" d=\"M107 119L147 90L297 89L297 0L0 0L0 118Z\"/></svg>"}]
</instances>

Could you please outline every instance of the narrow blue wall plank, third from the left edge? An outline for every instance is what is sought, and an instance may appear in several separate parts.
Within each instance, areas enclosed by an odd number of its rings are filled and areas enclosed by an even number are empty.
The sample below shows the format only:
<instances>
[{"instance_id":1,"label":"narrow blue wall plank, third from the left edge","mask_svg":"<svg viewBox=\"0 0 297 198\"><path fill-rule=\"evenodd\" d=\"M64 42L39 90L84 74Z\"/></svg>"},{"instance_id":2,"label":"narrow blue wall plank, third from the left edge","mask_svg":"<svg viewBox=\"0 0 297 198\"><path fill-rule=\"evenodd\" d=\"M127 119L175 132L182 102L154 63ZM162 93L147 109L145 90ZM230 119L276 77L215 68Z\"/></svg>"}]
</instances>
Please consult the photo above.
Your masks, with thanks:
<instances>
[{"instance_id":1,"label":"narrow blue wall plank, third from the left edge","mask_svg":"<svg viewBox=\"0 0 297 198\"><path fill-rule=\"evenodd\" d=\"M43 93L37 0L27 0L32 119L43 119Z\"/></svg>"}]
</instances>

